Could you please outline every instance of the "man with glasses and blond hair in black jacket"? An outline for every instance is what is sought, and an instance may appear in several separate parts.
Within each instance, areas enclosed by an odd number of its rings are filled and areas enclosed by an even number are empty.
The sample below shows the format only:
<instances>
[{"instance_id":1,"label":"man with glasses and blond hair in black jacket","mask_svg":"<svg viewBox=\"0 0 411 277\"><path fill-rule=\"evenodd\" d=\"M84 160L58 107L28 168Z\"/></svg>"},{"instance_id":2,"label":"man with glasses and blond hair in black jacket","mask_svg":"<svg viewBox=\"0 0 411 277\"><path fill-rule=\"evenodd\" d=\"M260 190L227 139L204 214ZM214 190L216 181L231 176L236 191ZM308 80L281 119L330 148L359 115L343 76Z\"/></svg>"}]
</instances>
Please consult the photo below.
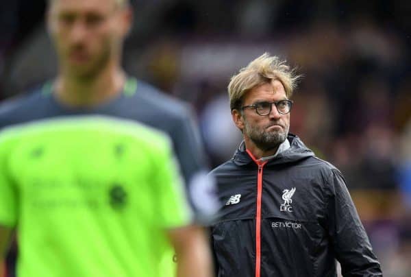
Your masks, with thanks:
<instances>
[{"instance_id":1,"label":"man with glasses and blond hair in black jacket","mask_svg":"<svg viewBox=\"0 0 411 277\"><path fill-rule=\"evenodd\" d=\"M232 77L244 141L216 167L224 206L212 224L218 276L382 276L345 180L288 132L298 76L264 54Z\"/></svg>"}]
</instances>

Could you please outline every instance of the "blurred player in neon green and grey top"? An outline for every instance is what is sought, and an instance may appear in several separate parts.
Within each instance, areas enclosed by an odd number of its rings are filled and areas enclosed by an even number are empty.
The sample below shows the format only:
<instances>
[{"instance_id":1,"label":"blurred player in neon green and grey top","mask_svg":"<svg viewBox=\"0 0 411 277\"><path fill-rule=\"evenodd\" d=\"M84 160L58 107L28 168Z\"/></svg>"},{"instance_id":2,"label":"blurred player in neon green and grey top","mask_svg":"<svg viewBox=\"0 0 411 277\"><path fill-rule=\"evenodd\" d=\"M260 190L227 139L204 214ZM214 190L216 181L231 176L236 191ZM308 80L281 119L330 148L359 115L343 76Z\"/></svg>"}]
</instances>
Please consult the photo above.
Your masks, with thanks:
<instances>
[{"instance_id":1,"label":"blurred player in neon green and grey top","mask_svg":"<svg viewBox=\"0 0 411 277\"><path fill-rule=\"evenodd\" d=\"M173 276L173 259L210 276L197 129L121 69L131 23L126 0L49 1L58 75L0 107L0 258L16 229L18 276Z\"/></svg>"}]
</instances>

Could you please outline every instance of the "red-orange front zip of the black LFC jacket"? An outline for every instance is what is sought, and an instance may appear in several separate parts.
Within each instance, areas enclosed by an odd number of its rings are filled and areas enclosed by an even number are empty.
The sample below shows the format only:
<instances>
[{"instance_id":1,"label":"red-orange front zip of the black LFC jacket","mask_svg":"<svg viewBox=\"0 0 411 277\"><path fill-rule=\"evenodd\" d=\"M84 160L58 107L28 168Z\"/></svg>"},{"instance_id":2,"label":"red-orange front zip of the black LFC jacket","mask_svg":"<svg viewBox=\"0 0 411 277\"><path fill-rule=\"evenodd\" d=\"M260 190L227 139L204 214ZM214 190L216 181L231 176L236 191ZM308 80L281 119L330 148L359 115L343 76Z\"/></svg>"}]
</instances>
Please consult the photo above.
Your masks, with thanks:
<instances>
[{"instance_id":1,"label":"red-orange front zip of the black LFC jacket","mask_svg":"<svg viewBox=\"0 0 411 277\"><path fill-rule=\"evenodd\" d=\"M256 277L261 275L261 202L262 202L262 168L268 160L256 160L247 149L247 153L258 165L257 174L257 210L256 210Z\"/></svg>"}]
</instances>

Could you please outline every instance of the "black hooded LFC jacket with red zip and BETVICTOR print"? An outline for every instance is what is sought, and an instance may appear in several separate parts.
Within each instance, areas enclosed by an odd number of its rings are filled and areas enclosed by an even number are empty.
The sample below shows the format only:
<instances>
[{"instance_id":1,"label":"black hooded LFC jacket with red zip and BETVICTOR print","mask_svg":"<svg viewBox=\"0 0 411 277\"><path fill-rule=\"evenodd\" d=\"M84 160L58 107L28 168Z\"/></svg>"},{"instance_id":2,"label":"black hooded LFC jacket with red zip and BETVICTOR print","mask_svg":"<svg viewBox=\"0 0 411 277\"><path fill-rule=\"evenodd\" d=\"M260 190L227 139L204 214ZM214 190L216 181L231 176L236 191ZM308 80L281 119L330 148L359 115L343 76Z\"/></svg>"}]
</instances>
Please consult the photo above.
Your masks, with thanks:
<instances>
[{"instance_id":1,"label":"black hooded LFC jacket with red zip and BETVICTOR print","mask_svg":"<svg viewBox=\"0 0 411 277\"><path fill-rule=\"evenodd\" d=\"M240 147L211 172L224 204L211 228L218 276L334 277L336 259L343 276L382 276L340 171L288 141L265 165Z\"/></svg>"}]
</instances>

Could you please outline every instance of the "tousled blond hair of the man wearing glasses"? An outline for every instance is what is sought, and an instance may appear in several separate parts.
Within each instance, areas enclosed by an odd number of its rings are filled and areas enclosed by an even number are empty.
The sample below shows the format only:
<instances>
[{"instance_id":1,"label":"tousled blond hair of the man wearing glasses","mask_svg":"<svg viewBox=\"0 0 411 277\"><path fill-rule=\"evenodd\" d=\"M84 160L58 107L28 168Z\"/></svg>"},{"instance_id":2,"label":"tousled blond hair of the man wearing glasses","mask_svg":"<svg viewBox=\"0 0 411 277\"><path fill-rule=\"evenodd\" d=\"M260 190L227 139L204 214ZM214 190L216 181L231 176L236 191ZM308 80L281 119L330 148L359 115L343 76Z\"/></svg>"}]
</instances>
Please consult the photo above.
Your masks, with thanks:
<instances>
[{"instance_id":1,"label":"tousled blond hair of the man wearing glasses","mask_svg":"<svg viewBox=\"0 0 411 277\"><path fill-rule=\"evenodd\" d=\"M240 69L228 84L229 106L231 110L238 110L242 104L242 97L252 88L262 84L269 84L278 80L284 86L286 97L292 95L297 86L297 80L301 76L296 75L295 69L290 69L285 61L277 56L264 53L251 61L247 67Z\"/></svg>"}]
</instances>

